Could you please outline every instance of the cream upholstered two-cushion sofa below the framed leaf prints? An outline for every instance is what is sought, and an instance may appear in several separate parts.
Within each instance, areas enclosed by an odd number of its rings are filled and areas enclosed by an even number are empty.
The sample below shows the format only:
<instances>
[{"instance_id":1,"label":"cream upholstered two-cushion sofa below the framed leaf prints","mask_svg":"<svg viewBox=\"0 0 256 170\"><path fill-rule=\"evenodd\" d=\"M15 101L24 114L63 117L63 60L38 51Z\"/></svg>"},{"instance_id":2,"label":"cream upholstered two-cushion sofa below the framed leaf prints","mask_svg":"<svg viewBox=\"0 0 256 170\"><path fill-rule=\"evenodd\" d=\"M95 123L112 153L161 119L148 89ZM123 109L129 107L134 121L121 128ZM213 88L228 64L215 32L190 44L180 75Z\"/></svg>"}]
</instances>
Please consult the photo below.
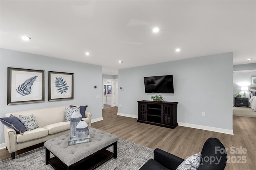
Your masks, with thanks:
<instances>
[{"instance_id":1,"label":"cream upholstered two-cushion sofa below the framed leaf prints","mask_svg":"<svg viewBox=\"0 0 256 170\"><path fill-rule=\"evenodd\" d=\"M11 153L12 159L15 158L15 151L45 142L54 137L70 133L70 121L65 122L65 108L69 106L48 107L43 109L34 109L27 111L19 111L14 113L6 113L6 117L11 114L19 117L19 115L33 114L39 127L31 131L25 131L24 134L17 134L10 127L4 126L4 140L6 148ZM88 126L91 126L92 114L85 112Z\"/></svg>"}]
</instances>

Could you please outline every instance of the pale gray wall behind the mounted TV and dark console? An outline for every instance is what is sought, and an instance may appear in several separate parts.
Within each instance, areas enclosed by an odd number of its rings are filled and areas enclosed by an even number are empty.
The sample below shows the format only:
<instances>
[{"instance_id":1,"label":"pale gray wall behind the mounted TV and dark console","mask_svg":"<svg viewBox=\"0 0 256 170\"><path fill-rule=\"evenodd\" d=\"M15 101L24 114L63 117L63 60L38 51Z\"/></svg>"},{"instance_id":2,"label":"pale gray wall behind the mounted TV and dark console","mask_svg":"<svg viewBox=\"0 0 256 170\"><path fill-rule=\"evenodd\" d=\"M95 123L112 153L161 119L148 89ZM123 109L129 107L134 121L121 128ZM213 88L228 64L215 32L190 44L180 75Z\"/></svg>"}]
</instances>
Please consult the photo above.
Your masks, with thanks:
<instances>
[{"instance_id":1,"label":"pale gray wall behind the mounted TV and dark console","mask_svg":"<svg viewBox=\"0 0 256 170\"><path fill-rule=\"evenodd\" d=\"M172 74L174 94L162 96L178 102L178 122L232 130L232 71L233 53L120 69L118 113L138 116L137 101L155 95L145 93L143 77Z\"/></svg>"}]
</instances>

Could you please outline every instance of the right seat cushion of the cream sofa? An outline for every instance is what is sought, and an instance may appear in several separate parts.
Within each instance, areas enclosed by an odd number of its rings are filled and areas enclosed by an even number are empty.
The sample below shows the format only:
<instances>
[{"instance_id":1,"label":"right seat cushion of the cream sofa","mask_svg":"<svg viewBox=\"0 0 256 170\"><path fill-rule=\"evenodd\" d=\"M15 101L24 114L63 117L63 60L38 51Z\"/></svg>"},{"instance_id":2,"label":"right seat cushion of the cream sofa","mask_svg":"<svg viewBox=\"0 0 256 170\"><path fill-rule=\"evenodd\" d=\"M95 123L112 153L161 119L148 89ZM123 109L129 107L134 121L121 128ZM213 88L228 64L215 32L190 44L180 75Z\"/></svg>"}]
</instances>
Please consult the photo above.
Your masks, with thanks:
<instances>
[{"instance_id":1,"label":"right seat cushion of the cream sofa","mask_svg":"<svg viewBox=\"0 0 256 170\"><path fill-rule=\"evenodd\" d=\"M43 128L48 129L49 135L51 135L54 133L58 133L58 132L62 132L70 129L70 121L58 122L51 125L46 125Z\"/></svg>"}]
</instances>

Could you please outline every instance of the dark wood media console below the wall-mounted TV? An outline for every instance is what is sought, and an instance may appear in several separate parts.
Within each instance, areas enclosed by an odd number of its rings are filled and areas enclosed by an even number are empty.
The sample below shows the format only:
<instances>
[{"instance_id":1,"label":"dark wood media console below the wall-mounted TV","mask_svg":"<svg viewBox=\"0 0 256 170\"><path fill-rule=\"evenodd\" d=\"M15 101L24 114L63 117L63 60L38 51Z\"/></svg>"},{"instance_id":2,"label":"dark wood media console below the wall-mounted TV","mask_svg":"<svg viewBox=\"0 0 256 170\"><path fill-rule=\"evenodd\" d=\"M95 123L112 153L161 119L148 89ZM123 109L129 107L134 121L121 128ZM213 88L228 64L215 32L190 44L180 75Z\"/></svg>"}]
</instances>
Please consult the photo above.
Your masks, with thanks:
<instances>
[{"instance_id":1,"label":"dark wood media console below the wall-mounted TV","mask_svg":"<svg viewBox=\"0 0 256 170\"><path fill-rule=\"evenodd\" d=\"M174 129L178 102L138 101L138 122Z\"/></svg>"}]
</instances>

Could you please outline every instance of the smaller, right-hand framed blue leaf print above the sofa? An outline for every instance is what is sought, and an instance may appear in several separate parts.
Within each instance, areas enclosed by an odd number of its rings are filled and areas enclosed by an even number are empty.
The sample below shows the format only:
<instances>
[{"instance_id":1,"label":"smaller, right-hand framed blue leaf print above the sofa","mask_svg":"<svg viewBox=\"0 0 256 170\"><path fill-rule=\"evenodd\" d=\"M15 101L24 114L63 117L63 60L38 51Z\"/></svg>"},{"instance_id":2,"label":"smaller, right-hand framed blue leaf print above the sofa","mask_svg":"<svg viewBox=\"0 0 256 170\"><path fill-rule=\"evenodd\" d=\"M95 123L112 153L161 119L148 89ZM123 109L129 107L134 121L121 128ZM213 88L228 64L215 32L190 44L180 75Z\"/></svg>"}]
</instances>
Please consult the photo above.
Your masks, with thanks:
<instances>
[{"instance_id":1,"label":"smaller, right-hand framed blue leaf print above the sofa","mask_svg":"<svg viewBox=\"0 0 256 170\"><path fill-rule=\"evenodd\" d=\"M74 99L74 73L49 71L48 101Z\"/></svg>"}]
</instances>

